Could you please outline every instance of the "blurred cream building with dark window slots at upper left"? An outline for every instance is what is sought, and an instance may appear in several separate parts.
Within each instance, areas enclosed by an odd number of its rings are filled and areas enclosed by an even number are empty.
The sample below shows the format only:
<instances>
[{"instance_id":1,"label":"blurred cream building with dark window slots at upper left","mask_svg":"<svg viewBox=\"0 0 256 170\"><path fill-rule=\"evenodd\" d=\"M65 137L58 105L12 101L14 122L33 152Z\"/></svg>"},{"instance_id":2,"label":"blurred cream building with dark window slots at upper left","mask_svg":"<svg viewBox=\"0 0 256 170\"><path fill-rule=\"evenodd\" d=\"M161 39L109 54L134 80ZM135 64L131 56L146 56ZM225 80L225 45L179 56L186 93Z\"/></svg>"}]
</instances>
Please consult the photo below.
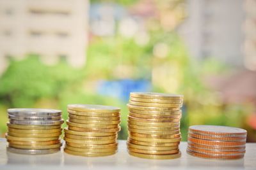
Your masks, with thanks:
<instances>
[{"instance_id":1,"label":"blurred cream building with dark window slots at upper left","mask_svg":"<svg viewBox=\"0 0 256 170\"><path fill-rule=\"evenodd\" d=\"M0 0L0 73L8 57L40 55L45 64L86 60L88 0Z\"/></svg>"}]
</instances>

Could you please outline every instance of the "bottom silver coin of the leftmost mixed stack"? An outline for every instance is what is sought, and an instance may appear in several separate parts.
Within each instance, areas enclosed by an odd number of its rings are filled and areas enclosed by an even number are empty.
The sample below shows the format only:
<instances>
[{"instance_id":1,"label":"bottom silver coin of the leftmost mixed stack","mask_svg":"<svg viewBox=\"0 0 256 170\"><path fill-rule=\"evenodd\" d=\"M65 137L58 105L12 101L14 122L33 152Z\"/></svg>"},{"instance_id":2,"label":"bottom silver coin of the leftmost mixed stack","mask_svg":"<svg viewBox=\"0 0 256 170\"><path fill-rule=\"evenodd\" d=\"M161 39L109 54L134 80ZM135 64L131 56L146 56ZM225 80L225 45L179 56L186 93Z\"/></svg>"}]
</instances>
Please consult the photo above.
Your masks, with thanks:
<instances>
[{"instance_id":1,"label":"bottom silver coin of the leftmost mixed stack","mask_svg":"<svg viewBox=\"0 0 256 170\"><path fill-rule=\"evenodd\" d=\"M8 152L20 153L20 154L29 154L29 155L40 155L40 154L49 154L60 151L60 148L46 149L46 150L26 150L26 149L17 149L12 147L6 147Z\"/></svg>"}]
</instances>

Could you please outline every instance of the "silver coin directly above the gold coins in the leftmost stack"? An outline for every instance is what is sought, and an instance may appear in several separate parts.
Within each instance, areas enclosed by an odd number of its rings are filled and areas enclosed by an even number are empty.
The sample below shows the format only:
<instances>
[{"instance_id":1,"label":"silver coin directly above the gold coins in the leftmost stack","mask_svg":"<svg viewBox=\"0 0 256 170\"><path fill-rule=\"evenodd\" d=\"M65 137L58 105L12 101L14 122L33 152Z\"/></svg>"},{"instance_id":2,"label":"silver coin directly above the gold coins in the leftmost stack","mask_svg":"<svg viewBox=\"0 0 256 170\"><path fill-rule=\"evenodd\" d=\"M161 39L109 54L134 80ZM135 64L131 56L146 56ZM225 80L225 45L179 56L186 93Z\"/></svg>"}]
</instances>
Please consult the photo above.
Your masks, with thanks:
<instances>
[{"instance_id":1,"label":"silver coin directly above the gold coins in the leftmost stack","mask_svg":"<svg viewBox=\"0 0 256 170\"><path fill-rule=\"evenodd\" d=\"M60 125L63 124L64 120L10 120L10 124L16 125Z\"/></svg>"}]
</instances>

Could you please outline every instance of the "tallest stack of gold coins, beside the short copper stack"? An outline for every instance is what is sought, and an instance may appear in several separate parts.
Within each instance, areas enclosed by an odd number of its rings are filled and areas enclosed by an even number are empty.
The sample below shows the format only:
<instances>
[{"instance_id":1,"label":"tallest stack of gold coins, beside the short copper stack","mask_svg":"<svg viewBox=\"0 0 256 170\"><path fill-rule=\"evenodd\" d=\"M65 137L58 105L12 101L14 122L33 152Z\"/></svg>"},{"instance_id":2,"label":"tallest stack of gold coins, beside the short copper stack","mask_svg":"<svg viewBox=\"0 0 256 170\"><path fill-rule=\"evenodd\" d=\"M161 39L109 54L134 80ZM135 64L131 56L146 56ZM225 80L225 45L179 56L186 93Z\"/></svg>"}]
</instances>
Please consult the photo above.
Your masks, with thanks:
<instances>
[{"instance_id":1,"label":"tallest stack of gold coins, beside the short copper stack","mask_svg":"<svg viewBox=\"0 0 256 170\"><path fill-rule=\"evenodd\" d=\"M180 157L180 118L183 96L154 92L131 92L127 149L147 159Z\"/></svg>"}]
</instances>

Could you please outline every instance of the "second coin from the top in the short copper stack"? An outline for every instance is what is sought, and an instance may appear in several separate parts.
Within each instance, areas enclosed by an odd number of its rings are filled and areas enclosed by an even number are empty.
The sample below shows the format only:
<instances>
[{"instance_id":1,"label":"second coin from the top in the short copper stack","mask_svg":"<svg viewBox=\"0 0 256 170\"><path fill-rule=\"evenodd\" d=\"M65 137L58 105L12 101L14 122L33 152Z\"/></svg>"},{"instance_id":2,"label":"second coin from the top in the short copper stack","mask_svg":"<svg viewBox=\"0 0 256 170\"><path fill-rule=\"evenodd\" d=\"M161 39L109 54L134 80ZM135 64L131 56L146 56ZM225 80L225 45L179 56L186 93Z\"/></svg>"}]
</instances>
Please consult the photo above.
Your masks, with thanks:
<instances>
[{"instance_id":1,"label":"second coin from the top in the short copper stack","mask_svg":"<svg viewBox=\"0 0 256 170\"><path fill-rule=\"evenodd\" d=\"M197 138L197 139L206 139L206 140L216 140L216 141L244 141L246 137L223 137L223 136L208 136L202 134L193 134L191 132L188 133L189 137Z\"/></svg>"}]
</instances>

